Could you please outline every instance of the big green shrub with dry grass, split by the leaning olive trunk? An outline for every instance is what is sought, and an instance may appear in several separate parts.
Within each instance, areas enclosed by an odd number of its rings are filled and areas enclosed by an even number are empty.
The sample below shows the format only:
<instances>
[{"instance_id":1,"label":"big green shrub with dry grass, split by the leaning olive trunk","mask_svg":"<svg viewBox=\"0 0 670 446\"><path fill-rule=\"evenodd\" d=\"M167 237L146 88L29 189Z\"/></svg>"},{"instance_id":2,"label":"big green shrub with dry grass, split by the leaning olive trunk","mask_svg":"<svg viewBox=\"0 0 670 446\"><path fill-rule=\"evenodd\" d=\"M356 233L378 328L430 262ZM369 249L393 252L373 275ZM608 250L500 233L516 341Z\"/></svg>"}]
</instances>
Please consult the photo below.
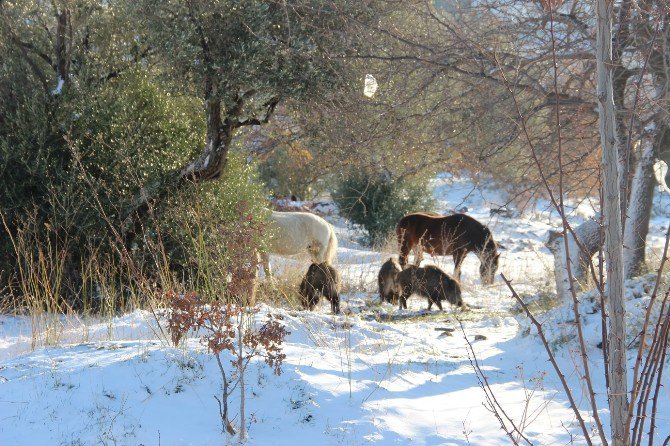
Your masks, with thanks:
<instances>
[{"instance_id":1,"label":"big green shrub with dry grass, split by the leaning olive trunk","mask_svg":"<svg viewBox=\"0 0 670 446\"><path fill-rule=\"evenodd\" d=\"M0 289L9 285L19 307L36 295L26 282L38 277L29 271L36 264L31 259L49 253L56 257L46 261L59 274L40 286L58 290L51 297L57 304L36 302L36 308L95 310L104 297L120 309L138 281L141 299L150 296L149 283L202 285L203 277L221 271L211 265L226 253L230 234L222 228L236 227L240 204L263 218L255 166L231 154L221 180L186 187L152 209L127 258L115 235L123 210L143 185L202 146L201 101L133 71L93 86L73 84L50 107L39 93L5 87L0 81ZM4 102L5 96L15 100ZM262 243L257 238L250 252Z\"/></svg>"}]
</instances>

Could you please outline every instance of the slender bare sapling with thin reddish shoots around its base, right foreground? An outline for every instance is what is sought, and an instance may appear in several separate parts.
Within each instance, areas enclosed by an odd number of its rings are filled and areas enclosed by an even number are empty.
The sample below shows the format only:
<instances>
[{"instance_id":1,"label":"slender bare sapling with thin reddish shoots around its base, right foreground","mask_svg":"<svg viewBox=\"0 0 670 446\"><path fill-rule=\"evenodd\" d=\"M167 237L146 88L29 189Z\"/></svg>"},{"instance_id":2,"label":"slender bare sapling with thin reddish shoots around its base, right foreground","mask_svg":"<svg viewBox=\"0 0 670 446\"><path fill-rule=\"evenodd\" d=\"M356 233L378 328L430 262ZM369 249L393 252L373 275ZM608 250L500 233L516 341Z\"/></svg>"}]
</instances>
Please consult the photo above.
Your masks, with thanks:
<instances>
[{"instance_id":1,"label":"slender bare sapling with thin reddish shoots around its base, right foreground","mask_svg":"<svg viewBox=\"0 0 670 446\"><path fill-rule=\"evenodd\" d=\"M548 8L553 8L555 5L547 2ZM609 330L604 329L603 325L603 347L606 347L606 344L609 344L608 348L603 348L603 354L605 356L605 373L606 373L606 385L608 391L608 400L610 406L610 429L611 429L611 439L614 445L628 445L642 444L642 430L647 419L651 419L651 429L649 431L649 444L653 444L654 441L654 429L655 429L655 420L656 420L656 410L657 410L657 395L659 392L659 386L662 382L663 374L663 362L667 356L667 330L670 322L670 315L667 311L667 302L668 302L668 293L666 293L660 304L660 313L657 320L654 321L653 327L651 326L650 315L652 309L655 306L657 300L657 293L659 290L659 284L661 282L661 275L666 261L666 254L668 250L668 244L670 241L670 231L666 234L666 244L663 253L663 261L661 266L658 269L657 281L654 287L653 292L651 293L651 300L648 303L647 312L645 315L645 320L640 336L640 346L638 348L637 359L634 364L634 377L633 377L633 387L630 393L630 402L629 394L627 389L627 361L626 361L626 350L628 348L625 342L625 308L624 308L624 293L623 293L623 279L624 279L624 265L623 265L623 218L621 214L621 196L622 192L621 187L621 150L618 141L618 134L616 129L615 121L615 101L613 98L613 82L612 82L612 67L611 63L611 30L612 30L612 8L613 2L609 0L598 0L596 3L596 12L597 12L597 45L596 45L596 61L597 61L597 74L598 74L598 84L597 84L597 97L599 100L599 113L600 113L600 133L602 139L602 183L603 183L603 198L601 199L602 208L603 208L603 227L604 227L604 236L605 236L605 260L607 263L607 286L603 287L603 275L600 276L599 289L603 295L604 300L607 301L609 309ZM559 150L560 150L560 120L557 125L558 135L559 135ZM535 157L535 152L532 147L532 142L529 139L529 145ZM650 150L645 151L647 154ZM652 158L653 159L653 158ZM653 161L652 161L653 163ZM636 171L636 176L640 176L640 165L644 166L645 162L638 164ZM559 168L561 166L559 165ZM541 171L541 168L540 168ZM650 176L651 173L649 172ZM546 184L546 183L545 183ZM639 196L640 192L636 192L636 188L639 186L637 183L633 183L633 197ZM563 202L557 202L553 199L553 195L548 185L546 185L547 191L552 197L552 202L556 206L557 211L563 217L564 224L564 242L566 245L566 253L569 253L568 246L570 245L570 240L575 240L575 245L578 251L584 252L584 247L580 246L579 239L580 237L576 235L579 228L573 230L569 225L566 224L565 220L565 211ZM568 234L572 236L572 239L568 238ZM557 234L554 235L554 238ZM575 246L573 246L575 247ZM569 258L569 256L567 256ZM590 259L589 259L590 261ZM579 334L580 344L579 350L582 357L587 356L587 351L582 342L581 335L581 322L579 317L579 308L578 302L575 295L575 286L574 286L574 276L570 274L570 263L566 264L568 274L566 276L567 280L567 290L570 291L570 294L573 296L573 310L575 315L575 325ZM590 268L593 272L593 267L590 265ZM545 348L547 349L547 354L550 359L553 357L548 344L545 341L543 328L541 324L538 323L537 319L530 313L527 305L519 298L517 293L514 291L514 288L511 285L511 282L508 281L504 276L503 280L510 288L513 296L517 299L519 304L526 310L526 314L533 322L535 328L540 335L540 338L544 341ZM603 304L603 324L605 323L605 305ZM653 334L652 334L653 332ZM651 337L651 342L646 343L647 336ZM643 360L642 358L646 358ZM663 358L663 359L661 359ZM555 363L554 363L555 364ZM555 364L556 365L556 364ZM559 377L562 376L562 371L559 367L556 367L556 372ZM653 375L653 378L652 378ZM586 362L584 363L583 370L583 379L585 380L588 389L592 392L591 387L591 375L586 368ZM571 391L567 387L564 381L564 390L566 395L572 400ZM642 390L644 388L644 390ZM487 389L490 391L490 388ZM652 396L653 395L653 396ZM488 396L488 395L487 395ZM649 402L651 401L651 413L648 413ZM573 409L576 409L574 403L572 403ZM591 401L591 410L596 416L598 407L594 400ZM496 409L496 414L499 415L504 409L498 407ZM578 417L579 418L579 417ZM633 424L634 421L634 424ZM631 430L631 426L632 430ZM582 426L583 428L583 426ZM587 443L591 444L589 438L589 433L586 430L582 429L585 434ZM603 436L603 427L602 425L597 426L598 434L601 436L601 441L603 444L607 444L606 438ZM667 441L667 439L666 439Z\"/></svg>"}]
</instances>

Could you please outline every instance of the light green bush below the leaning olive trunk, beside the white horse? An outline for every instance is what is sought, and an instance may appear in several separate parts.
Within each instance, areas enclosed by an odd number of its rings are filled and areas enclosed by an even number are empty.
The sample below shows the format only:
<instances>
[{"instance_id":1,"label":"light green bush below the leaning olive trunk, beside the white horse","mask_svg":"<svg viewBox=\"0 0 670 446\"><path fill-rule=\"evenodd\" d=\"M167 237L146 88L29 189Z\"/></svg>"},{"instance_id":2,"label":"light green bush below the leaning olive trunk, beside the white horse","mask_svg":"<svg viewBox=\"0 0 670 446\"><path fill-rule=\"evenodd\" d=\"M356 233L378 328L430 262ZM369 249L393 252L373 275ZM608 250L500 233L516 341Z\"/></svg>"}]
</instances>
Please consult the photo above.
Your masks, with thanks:
<instances>
[{"instance_id":1,"label":"light green bush below the leaning olive trunk, beside the white horse","mask_svg":"<svg viewBox=\"0 0 670 446\"><path fill-rule=\"evenodd\" d=\"M158 231L145 236L150 242L146 248L160 245L170 271L178 273L189 289L208 299L220 298L228 287L229 272L254 258L265 244L268 209L256 166L233 153L220 180L187 187L169 204ZM250 237L244 246L235 241L241 233Z\"/></svg>"}]
</instances>

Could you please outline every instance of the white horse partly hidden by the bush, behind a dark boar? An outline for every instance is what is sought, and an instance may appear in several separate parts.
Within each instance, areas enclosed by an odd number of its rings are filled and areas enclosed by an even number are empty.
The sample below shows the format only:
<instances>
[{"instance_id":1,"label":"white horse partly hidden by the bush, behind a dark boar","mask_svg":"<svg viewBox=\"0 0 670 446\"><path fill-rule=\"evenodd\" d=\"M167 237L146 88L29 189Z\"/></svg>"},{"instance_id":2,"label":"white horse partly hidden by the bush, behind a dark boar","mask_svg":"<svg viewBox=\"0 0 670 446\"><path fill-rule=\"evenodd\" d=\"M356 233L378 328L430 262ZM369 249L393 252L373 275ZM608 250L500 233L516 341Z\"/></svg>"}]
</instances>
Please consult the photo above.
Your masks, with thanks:
<instances>
[{"instance_id":1,"label":"white horse partly hidden by the bush, behind a dark boar","mask_svg":"<svg viewBox=\"0 0 670 446\"><path fill-rule=\"evenodd\" d=\"M272 211L269 229L272 233L269 252L262 254L263 267L269 277L272 276L270 254L288 256L306 251L314 263L333 263L337 251L335 230L318 215Z\"/></svg>"}]
</instances>

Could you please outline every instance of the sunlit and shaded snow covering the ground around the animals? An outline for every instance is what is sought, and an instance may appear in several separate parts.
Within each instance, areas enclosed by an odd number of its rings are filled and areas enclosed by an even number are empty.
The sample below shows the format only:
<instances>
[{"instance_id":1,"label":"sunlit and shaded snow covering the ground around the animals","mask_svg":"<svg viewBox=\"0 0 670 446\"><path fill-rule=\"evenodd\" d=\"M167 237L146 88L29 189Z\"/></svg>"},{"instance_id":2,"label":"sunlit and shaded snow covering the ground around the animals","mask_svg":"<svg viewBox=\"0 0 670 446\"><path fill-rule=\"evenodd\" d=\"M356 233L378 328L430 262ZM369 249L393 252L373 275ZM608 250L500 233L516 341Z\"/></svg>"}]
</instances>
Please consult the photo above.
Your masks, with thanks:
<instances>
[{"instance_id":1,"label":"sunlit and shaded snow covering the ground around the animals","mask_svg":"<svg viewBox=\"0 0 670 446\"><path fill-rule=\"evenodd\" d=\"M506 201L496 191L448 175L436 178L433 186L437 211L465 206L491 227L506 247L500 271L521 295L550 295L553 261L543 242L547 230L558 227L555 213L540 204L520 217L491 218L489 209ZM656 249L668 215L670 200L658 197L649 239ZM379 306L376 292L379 267L397 253L371 251L359 242L359 231L337 216L329 219L339 238L344 314L329 314L327 302L313 313L262 307L262 312L280 314L291 334L281 376L262 362L249 371L249 444L509 444L485 407L467 341L498 402L529 439L538 445L583 444L538 337L500 279L491 286L480 284L474 255L466 259L462 277L470 312L445 308L426 313L426 301L417 297L408 310L399 311ZM453 268L451 258L426 260L447 272ZM294 259L272 261L279 274L307 268ZM631 333L648 302L651 280L629 284ZM588 305L584 310L585 332L599 414L607 423L597 347L600 315L591 310ZM558 307L543 320L590 423L587 396L574 368L578 357L570 317ZM141 311L112 320L61 322L57 346L44 347L46 340L37 337L32 350L30 320L0 317L0 446L235 442L221 433L213 397L220 394L219 372L198 338L171 347L153 315ZM633 355L631 351L631 360ZM670 435L670 382L667 377L664 381L659 444ZM231 398L233 417L236 398L237 393Z\"/></svg>"}]
</instances>

